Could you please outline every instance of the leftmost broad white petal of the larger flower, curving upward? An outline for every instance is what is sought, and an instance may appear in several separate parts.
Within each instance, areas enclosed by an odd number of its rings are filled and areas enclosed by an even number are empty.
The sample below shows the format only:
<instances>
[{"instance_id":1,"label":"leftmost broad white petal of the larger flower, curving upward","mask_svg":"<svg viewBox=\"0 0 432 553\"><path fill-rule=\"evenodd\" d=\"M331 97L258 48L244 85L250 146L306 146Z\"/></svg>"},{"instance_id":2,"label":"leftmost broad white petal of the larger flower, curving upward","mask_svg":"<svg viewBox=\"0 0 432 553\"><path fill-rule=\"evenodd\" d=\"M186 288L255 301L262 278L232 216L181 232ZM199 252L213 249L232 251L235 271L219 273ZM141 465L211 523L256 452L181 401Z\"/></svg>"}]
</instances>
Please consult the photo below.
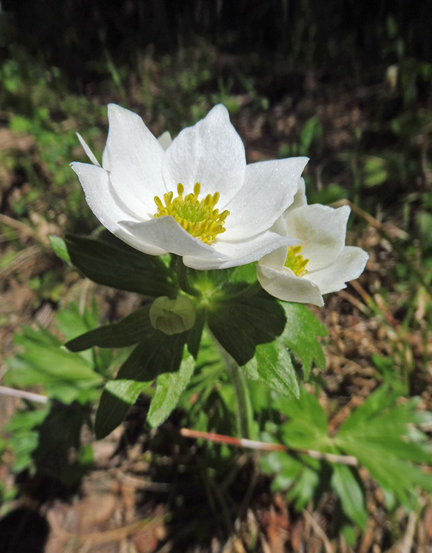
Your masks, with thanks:
<instances>
[{"instance_id":1,"label":"leftmost broad white petal of the larger flower, curving upward","mask_svg":"<svg viewBox=\"0 0 432 553\"><path fill-rule=\"evenodd\" d=\"M109 174L104 169L79 162L71 163L71 167L77 174L79 182L84 189L86 201L90 209L105 228L109 229L115 236L118 236L120 240L135 247L136 250L151 255L166 253L165 250L159 247L142 244L138 238L120 227L118 221L122 221L124 218L129 218L131 221L135 220L135 222L139 220L134 219L129 209L122 205L120 199L115 196L115 192L110 187Z\"/></svg>"}]
</instances>

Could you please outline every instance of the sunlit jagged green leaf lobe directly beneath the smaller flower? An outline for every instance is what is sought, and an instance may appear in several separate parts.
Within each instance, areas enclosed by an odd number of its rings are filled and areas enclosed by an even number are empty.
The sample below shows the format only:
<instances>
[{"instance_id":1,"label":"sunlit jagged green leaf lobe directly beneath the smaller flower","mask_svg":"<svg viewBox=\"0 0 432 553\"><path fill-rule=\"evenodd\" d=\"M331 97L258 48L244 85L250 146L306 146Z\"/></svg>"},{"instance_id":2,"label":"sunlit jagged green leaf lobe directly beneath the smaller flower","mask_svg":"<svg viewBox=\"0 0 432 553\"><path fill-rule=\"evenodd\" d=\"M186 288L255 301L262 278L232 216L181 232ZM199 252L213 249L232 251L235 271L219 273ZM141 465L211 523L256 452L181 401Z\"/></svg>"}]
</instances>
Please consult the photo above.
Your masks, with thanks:
<instances>
[{"instance_id":1,"label":"sunlit jagged green leaf lobe directly beneath the smaller flower","mask_svg":"<svg viewBox=\"0 0 432 553\"><path fill-rule=\"evenodd\" d=\"M280 305L286 318L281 341L300 357L305 378L308 379L313 362L319 368L326 368L326 356L317 336L327 336L327 329L303 303L283 301Z\"/></svg>"}]
</instances>

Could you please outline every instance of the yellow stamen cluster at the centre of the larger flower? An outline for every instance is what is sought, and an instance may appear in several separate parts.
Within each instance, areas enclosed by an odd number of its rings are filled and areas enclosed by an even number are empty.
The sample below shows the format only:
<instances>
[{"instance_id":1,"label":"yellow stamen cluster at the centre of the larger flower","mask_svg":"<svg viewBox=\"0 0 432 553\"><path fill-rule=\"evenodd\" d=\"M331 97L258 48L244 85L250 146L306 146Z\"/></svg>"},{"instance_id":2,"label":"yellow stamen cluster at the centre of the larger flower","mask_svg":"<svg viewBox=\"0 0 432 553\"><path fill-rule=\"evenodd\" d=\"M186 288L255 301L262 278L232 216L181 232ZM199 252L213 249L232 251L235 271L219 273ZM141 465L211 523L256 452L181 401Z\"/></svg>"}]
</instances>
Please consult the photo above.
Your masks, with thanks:
<instances>
[{"instance_id":1,"label":"yellow stamen cluster at the centre of the larger flower","mask_svg":"<svg viewBox=\"0 0 432 553\"><path fill-rule=\"evenodd\" d=\"M173 199L173 192L164 194L165 205L162 204L159 196L155 196L158 213L155 213L154 216L171 215L194 238L198 238L206 244L211 244L218 234L225 232L223 225L229 212L225 209L225 211L219 213L218 209L214 209L220 196L218 192L215 192L213 196L207 194L203 200L198 200L200 189L200 183L196 182L194 193L187 194L183 198L185 187L179 183L177 185L177 198Z\"/></svg>"}]
</instances>

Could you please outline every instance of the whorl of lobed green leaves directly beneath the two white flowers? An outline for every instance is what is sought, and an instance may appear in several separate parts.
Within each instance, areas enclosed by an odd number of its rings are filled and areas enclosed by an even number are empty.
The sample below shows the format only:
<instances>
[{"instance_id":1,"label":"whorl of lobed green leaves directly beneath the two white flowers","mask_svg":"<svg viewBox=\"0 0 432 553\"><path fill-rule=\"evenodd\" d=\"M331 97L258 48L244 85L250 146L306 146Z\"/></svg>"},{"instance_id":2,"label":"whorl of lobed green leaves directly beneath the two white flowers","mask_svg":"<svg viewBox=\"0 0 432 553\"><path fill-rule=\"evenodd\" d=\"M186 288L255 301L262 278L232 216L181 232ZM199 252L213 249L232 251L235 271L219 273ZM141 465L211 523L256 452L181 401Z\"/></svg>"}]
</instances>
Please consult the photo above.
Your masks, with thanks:
<instances>
[{"instance_id":1,"label":"whorl of lobed green leaves directly beneath the two white flowers","mask_svg":"<svg viewBox=\"0 0 432 553\"><path fill-rule=\"evenodd\" d=\"M85 274L99 282L153 297L169 292L172 299L164 300L167 305L183 299L188 310L196 312L196 317L188 319L185 327L188 330L181 332L183 327L179 327L173 333L170 327L162 332L151 316L152 303L121 321L68 341L66 347L73 352L95 346L113 348L136 344L120 366L116 376L118 383L110 382L102 393L95 422L98 438L124 420L143 392L153 396L147 418L150 426L158 426L167 418L194 373L206 321L225 350L224 362L230 371L236 371L233 363L238 364L248 377L259 379L284 395L297 396L299 393L291 355L298 355L306 375L314 360L323 366L323 353L316 337L325 334L323 326L303 306L281 306L262 290L256 283L255 263L223 271L185 272L176 256L168 263L167 259L121 246L113 237L105 241L71 237L65 243L67 256L62 243L55 241L53 245L61 256L69 257ZM185 275L189 277L186 285ZM181 293L176 299L180 283L193 295L186 297ZM158 297L154 301L160 300ZM234 377L234 373L232 375ZM247 386L241 378L236 376L236 386L246 391ZM155 379L153 392L150 386ZM211 388L215 382L213 378L206 386ZM253 429L252 404L246 393L243 396L243 407L249 409L252 417L247 426Z\"/></svg>"}]
</instances>

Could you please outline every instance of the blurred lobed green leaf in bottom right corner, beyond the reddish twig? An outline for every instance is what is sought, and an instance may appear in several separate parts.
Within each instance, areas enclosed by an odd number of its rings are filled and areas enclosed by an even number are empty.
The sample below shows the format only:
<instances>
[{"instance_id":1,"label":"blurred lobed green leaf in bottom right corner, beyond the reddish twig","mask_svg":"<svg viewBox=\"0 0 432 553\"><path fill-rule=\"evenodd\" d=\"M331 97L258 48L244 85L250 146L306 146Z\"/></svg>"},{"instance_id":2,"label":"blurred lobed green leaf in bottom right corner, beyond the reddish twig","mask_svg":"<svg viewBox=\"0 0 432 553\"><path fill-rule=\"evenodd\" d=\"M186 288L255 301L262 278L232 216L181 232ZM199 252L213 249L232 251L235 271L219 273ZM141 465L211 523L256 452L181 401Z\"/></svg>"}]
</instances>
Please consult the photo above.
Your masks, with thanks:
<instances>
[{"instance_id":1,"label":"blurred lobed green leaf in bottom right corner, beyond the reddish twig","mask_svg":"<svg viewBox=\"0 0 432 553\"><path fill-rule=\"evenodd\" d=\"M351 456L350 461L357 459L399 503L415 508L417 487L432 490L432 477L421 468L431 464L432 451L426 435L414 428L430 420L431 414L417 411L414 400L400 403L398 399L388 386L381 386L330 436L326 414L304 388L298 400L276 397L273 408L281 410L288 420L270 430L276 431L280 442L293 453L269 453L263 457L261 468L275 474L274 489L288 489L288 498L295 500L297 509L332 489L345 516L364 529L368 514L357 467L326 458L326 454ZM296 454L296 450L319 452L322 459Z\"/></svg>"}]
</instances>

